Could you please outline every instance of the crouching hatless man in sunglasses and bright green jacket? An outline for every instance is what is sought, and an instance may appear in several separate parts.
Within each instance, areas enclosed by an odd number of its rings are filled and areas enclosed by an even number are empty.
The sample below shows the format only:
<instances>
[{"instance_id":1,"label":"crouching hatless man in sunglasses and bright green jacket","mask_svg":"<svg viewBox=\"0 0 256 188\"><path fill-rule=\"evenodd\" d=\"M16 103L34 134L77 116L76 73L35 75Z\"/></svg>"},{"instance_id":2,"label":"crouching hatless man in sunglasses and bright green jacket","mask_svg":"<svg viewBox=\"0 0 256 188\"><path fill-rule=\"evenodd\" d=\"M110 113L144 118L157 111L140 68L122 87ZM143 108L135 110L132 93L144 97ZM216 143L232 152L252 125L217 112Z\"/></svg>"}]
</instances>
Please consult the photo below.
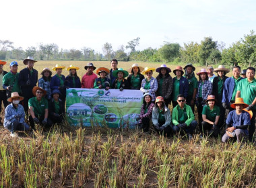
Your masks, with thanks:
<instances>
[{"instance_id":1,"label":"crouching hatless man in sunglasses and bright green jacket","mask_svg":"<svg viewBox=\"0 0 256 188\"><path fill-rule=\"evenodd\" d=\"M189 105L185 104L185 97L182 94L177 96L178 105L172 110L172 130L174 134L178 134L181 130L189 136L189 140L193 138L192 134L197 126L195 115Z\"/></svg>"}]
</instances>

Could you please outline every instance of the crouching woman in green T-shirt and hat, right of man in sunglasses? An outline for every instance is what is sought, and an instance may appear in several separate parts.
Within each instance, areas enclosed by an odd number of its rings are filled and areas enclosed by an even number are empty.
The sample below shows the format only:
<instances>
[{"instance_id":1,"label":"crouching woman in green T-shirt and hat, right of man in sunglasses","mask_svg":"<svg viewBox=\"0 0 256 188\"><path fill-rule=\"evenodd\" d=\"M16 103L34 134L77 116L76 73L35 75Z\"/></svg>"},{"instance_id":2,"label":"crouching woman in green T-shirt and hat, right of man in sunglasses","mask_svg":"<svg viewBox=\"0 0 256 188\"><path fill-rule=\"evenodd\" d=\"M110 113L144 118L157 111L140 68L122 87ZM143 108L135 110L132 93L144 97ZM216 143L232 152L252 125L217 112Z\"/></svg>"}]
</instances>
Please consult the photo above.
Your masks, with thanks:
<instances>
[{"instance_id":1,"label":"crouching woman in green T-shirt and hat, right of man in sunglasses","mask_svg":"<svg viewBox=\"0 0 256 188\"><path fill-rule=\"evenodd\" d=\"M220 131L220 107L216 105L217 101L214 95L209 95L205 101L206 105L203 107L202 119L203 122L199 126L201 131L201 137L208 130L208 135L213 134L214 137L218 137Z\"/></svg>"}]
</instances>

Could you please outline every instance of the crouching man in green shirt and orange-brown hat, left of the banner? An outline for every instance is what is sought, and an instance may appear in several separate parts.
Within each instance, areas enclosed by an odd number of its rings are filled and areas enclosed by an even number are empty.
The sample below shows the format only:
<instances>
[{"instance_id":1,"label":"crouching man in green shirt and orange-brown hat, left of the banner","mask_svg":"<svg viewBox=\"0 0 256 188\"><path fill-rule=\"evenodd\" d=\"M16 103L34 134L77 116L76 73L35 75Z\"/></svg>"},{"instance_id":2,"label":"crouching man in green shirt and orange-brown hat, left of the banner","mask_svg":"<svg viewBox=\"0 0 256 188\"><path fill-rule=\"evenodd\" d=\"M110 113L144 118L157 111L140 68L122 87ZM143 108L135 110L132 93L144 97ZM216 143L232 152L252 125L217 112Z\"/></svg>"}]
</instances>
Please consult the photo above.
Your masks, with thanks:
<instances>
[{"instance_id":1,"label":"crouching man in green shirt and orange-brown hat, left of the banner","mask_svg":"<svg viewBox=\"0 0 256 188\"><path fill-rule=\"evenodd\" d=\"M28 108L30 111L30 126L34 129L34 124L40 124L42 127L52 126L51 120L48 118L48 101L44 98L46 91L41 87L33 87L32 93L36 97L28 100Z\"/></svg>"}]
</instances>

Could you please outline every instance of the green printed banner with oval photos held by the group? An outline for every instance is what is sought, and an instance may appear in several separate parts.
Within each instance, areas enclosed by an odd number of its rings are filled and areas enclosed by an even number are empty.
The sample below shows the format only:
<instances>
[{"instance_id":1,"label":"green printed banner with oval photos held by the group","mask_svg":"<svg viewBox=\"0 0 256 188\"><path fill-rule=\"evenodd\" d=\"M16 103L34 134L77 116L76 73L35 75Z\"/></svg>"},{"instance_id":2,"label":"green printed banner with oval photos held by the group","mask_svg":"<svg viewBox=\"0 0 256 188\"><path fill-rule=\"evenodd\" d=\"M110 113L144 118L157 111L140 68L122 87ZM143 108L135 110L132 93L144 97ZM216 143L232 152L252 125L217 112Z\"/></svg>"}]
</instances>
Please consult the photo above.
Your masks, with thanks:
<instances>
[{"instance_id":1,"label":"green printed banner with oval photos held by the group","mask_svg":"<svg viewBox=\"0 0 256 188\"><path fill-rule=\"evenodd\" d=\"M139 90L67 89L66 111L73 126L134 128L139 117L143 93Z\"/></svg>"}]
</instances>

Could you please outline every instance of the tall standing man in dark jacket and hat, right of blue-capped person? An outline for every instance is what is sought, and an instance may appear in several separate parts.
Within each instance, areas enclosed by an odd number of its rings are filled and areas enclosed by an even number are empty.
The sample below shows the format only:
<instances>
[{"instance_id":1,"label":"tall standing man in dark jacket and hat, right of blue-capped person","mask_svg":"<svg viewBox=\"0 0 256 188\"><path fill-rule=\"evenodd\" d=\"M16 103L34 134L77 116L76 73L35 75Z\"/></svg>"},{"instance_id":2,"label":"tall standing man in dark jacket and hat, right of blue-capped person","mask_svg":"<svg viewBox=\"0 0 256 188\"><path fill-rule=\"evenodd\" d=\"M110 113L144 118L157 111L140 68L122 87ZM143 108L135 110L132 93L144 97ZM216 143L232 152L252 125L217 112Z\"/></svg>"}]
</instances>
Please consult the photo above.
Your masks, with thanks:
<instances>
[{"instance_id":1,"label":"tall standing man in dark jacket and hat, right of blue-capped person","mask_svg":"<svg viewBox=\"0 0 256 188\"><path fill-rule=\"evenodd\" d=\"M32 89L36 86L38 81L38 72L34 69L35 62L37 61L34 60L32 56L28 56L28 58L23 61L27 67L22 69L19 75L19 85L22 90L22 96L24 97L22 105L25 113L28 113L28 100L34 97Z\"/></svg>"}]
</instances>

